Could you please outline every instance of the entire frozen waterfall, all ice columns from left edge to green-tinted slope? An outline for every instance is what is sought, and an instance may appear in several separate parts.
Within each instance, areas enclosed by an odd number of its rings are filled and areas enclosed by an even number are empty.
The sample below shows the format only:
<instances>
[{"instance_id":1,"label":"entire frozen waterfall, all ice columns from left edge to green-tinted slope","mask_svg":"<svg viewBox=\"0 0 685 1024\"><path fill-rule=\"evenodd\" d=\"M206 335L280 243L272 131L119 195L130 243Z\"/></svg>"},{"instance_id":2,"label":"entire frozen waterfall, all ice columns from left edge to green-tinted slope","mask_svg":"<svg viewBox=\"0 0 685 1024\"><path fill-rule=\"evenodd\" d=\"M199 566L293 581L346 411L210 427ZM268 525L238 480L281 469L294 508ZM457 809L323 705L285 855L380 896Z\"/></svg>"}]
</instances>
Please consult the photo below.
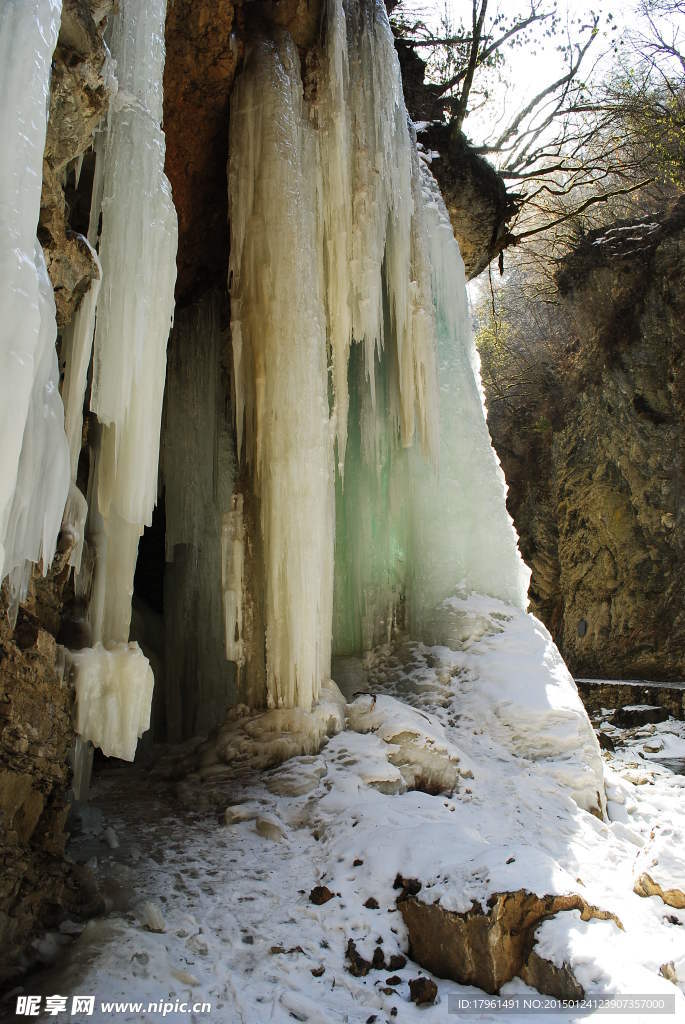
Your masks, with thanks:
<instances>
[{"instance_id":1,"label":"entire frozen waterfall, all ice columns from left edge to green-tinted slope","mask_svg":"<svg viewBox=\"0 0 685 1024\"><path fill-rule=\"evenodd\" d=\"M309 711L334 654L401 631L440 639L436 609L455 593L523 608L527 586L463 264L382 3L329 0L305 75L287 32L252 39L231 94L230 331L225 296L188 306L167 373L177 225L165 14L165 0L120 0L110 15L89 228L98 276L62 336L63 416L35 246L59 4L10 0L0 15L3 45L14 41L0 72L14 99L0 116L20 139L0 158L0 220L14 232L0 251L0 565L15 589L26 565L47 566L67 503L93 644L72 659L79 728L125 757L149 718L152 676L129 632L160 465L158 653L174 738L219 721L237 686L250 707ZM76 485L86 400L87 509Z\"/></svg>"}]
</instances>

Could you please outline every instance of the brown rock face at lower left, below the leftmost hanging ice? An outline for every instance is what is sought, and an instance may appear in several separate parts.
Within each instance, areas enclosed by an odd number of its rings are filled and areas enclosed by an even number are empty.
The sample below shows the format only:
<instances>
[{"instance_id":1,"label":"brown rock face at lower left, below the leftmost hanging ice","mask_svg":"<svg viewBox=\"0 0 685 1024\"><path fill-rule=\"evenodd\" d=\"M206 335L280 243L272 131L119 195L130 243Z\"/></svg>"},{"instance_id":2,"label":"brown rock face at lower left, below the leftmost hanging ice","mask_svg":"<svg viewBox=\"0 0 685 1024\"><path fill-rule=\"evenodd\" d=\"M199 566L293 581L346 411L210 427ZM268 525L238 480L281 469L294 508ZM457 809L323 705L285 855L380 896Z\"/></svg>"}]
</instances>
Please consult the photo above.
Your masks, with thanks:
<instances>
[{"instance_id":1,"label":"brown rock face at lower left, below the leftmost hanging ice","mask_svg":"<svg viewBox=\"0 0 685 1024\"><path fill-rule=\"evenodd\" d=\"M60 556L55 561L59 575ZM54 573L38 590L32 583L13 632L4 593L0 600L0 982L20 969L37 922L58 914L68 885L61 854L73 691L57 669L45 589L59 593Z\"/></svg>"}]
</instances>

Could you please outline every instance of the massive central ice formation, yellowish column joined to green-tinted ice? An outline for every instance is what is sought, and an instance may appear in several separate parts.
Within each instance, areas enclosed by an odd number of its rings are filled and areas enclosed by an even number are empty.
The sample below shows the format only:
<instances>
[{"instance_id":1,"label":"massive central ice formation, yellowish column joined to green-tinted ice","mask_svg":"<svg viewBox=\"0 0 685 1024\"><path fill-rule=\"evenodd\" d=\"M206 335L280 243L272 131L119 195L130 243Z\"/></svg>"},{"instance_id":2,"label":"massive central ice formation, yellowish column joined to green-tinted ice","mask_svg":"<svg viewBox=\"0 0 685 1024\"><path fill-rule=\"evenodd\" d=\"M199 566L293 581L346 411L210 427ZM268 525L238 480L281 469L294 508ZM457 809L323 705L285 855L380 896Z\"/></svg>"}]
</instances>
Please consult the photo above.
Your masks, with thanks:
<instances>
[{"instance_id":1,"label":"massive central ice formation, yellowish column joined to green-tinted ice","mask_svg":"<svg viewBox=\"0 0 685 1024\"><path fill-rule=\"evenodd\" d=\"M522 608L528 580L385 8L331 0L326 16L313 98L283 34L254 43L231 100L234 415L259 507L243 531L260 534L265 679L240 644L237 585L226 650L272 707L311 707L331 637L338 653L398 626L427 639L457 587ZM241 562L236 515L224 528Z\"/></svg>"}]
</instances>

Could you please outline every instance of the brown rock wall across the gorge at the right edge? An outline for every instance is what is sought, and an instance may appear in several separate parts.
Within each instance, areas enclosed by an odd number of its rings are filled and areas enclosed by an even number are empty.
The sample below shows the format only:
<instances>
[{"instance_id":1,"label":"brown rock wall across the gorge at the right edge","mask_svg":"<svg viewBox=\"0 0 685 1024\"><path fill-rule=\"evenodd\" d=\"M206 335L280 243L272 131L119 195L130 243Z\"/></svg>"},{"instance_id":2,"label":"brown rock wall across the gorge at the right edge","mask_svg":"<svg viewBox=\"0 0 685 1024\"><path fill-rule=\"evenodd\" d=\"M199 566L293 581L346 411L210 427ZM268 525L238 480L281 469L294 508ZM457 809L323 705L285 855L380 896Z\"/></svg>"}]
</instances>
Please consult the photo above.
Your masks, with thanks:
<instances>
[{"instance_id":1,"label":"brown rock wall across the gorge at the right edge","mask_svg":"<svg viewBox=\"0 0 685 1024\"><path fill-rule=\"evenodd\" d=\"M685 201L589 234L558 276L555 399L490 416L532 610L576 675L685 678L684 275Z\"/></svg>"}]
</instances>

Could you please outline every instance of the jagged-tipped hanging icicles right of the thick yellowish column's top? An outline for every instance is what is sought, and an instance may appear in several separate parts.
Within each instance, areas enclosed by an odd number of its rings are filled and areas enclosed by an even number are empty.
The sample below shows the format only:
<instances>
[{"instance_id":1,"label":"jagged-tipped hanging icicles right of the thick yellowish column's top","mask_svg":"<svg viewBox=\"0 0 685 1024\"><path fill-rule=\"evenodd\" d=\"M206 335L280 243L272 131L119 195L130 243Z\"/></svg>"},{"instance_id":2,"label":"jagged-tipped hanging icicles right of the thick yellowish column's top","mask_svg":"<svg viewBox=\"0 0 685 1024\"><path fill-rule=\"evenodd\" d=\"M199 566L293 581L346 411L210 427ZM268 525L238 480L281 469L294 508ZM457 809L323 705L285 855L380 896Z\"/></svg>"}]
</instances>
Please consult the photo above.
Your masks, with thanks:
<instances>
[{"instance_id":1,"label":"jagged-tipped hanging icicles right of the thick yellowish column's top","mask_svg":"<svg viewBox=\"0 0 685 1024\"><path fill-rule=\"evenodd\" d=\"M327 11L325 87L313 114L342 473L352 341L365 345L372 395L376 353L385 343L396 348L402 444L414 442L418 426L423 449L434 460L437 381L417 210L417 154L392 33L385 9L375 2L350 4L345 12L341 2L331 0Z\"/></svg>"}]
</instances>

